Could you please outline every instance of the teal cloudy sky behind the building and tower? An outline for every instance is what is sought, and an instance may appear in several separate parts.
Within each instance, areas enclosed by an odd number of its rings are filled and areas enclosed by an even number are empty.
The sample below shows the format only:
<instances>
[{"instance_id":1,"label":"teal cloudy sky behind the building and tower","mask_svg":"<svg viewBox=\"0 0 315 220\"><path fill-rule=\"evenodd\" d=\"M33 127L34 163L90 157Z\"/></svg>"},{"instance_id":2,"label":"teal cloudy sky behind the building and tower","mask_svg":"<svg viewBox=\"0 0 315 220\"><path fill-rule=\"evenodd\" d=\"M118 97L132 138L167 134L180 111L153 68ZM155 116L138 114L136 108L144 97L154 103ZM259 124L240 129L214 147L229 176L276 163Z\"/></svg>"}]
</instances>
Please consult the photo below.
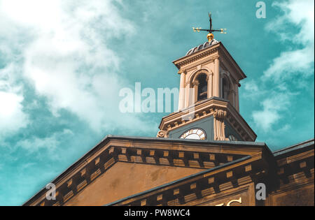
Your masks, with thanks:
<instances>
[{"instance_id":1,"label":"teal cloudy sky behind the building and tower","mask_svg":"<svg viewBox=\"0 0 315 220\"><path fill-rule=\"evenodd\" d=\"M0 0L0 205L22 205L106 135L155 137L120 89L177 88L208 27L247 75L240 113L273 151L314 138L314 1Z\"/></svg>"}]
</instances>

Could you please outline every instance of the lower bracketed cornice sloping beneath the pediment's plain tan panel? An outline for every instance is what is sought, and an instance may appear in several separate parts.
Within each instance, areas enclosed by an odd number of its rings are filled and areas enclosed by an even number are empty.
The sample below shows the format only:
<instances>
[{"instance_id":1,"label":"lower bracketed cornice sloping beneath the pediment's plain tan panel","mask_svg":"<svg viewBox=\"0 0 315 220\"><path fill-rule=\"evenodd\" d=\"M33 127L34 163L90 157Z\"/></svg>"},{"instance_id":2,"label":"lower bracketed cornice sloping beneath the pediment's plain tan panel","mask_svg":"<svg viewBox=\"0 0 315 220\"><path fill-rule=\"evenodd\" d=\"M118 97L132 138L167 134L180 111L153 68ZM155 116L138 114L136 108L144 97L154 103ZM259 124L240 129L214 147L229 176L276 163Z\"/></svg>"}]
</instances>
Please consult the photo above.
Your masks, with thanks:
<instances>
[{"instance_id":1,"label":"lower bracketed cornice sloping beneath the pediment's plain tan panel","mask_svg":"<svg viewBox=\"0 0 315 220\"><path fill-rule=\"evenodd\" d=\"M154 189L123 198L108 206L174 206L190 205L194 200L216 196L215 199L229 195L229 190L237 187L233 193L241 193L253 187L253 182L264 177L264 166L252 160L251 156L225 163L213 169L179 179ZM255 168L255 170L254 170ZM237 183L237 184L232 184ZM197 196L199 195L199 196ZM196 204L193 204L196 205Z\"/></svg>"}]
</instances>

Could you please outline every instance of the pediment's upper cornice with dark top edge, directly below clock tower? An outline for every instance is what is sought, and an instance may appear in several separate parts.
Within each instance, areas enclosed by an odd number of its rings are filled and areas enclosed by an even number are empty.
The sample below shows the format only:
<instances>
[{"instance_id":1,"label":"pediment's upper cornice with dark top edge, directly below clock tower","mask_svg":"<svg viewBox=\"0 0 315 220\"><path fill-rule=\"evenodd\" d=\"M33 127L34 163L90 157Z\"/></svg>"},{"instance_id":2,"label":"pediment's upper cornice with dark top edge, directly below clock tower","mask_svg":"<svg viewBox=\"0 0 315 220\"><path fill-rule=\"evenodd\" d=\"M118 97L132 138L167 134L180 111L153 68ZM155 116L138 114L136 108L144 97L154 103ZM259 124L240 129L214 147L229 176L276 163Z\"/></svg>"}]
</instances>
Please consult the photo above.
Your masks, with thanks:
<instances>
[{"instance_id":1,"label":"pediment's upper cornice with dark top edge, directly below clock tower","mask_svg":"<svg viewBox=\"0 0 315 220\"><path fill-rule=\"evenodd\" d=\"M182 140L176 140L178 143L174 144L174 141L160 138L144 141L137 138L109 140L92 154L86 154L80 159L80 163L75 163L75 166L71 166L71 169L62 173L57 180L52 181L56 186L57 200L46 200L45 193L48 190L43 189L25 205L64 205L117 162L209 169L244 155L251 155L255 160L261 159L260 152L265 150L265 145L255 147L254 143L250 149L240 147L246 142L239 142L237 147L226 142L223 147L221 142L199 141L196 145L194 142Z\"/></svg>"}]
</instances>

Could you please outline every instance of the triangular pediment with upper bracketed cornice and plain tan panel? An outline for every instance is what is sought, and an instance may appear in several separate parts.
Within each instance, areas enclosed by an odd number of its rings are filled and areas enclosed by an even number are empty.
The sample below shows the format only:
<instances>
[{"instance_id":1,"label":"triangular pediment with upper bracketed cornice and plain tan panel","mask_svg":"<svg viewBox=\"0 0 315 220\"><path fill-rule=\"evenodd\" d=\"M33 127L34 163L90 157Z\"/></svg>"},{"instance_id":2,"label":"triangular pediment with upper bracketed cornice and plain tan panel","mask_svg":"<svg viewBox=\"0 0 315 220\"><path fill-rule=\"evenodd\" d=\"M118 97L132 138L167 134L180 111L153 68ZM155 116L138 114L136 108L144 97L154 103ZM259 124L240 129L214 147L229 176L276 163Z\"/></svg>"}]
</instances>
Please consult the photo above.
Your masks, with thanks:
<instances>
[{"instance_id":1,"label":"triangular pediment with upper bracketed cornice and plain tan panel","mask_svg":"<svg viewBox=\"0 0 315 220\"><path fill-rule=\"evenodd\" d=\"M105 205L244 156L263 161L268 150L253 142L109 136L52 181L57 200L46 200L43 189L25 205Z\"/></svg>"}]
</instances>

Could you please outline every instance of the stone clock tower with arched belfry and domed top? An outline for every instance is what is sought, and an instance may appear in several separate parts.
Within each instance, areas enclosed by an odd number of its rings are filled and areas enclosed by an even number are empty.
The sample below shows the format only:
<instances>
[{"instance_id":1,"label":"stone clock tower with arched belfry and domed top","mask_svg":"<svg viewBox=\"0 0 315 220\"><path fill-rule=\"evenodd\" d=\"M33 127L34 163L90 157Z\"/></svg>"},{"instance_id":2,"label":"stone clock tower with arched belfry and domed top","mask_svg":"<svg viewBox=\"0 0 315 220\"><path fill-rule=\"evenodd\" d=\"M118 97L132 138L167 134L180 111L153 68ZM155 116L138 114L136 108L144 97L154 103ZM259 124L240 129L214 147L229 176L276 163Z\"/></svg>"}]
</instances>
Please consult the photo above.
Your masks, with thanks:
<instances>
[{"instance_id":1,"label":"stone clock tower with arched belfry and domed top","mask_svg":"<svg viewBox=\"0 0 315 220\"><path fill-rule=\"evenodd\" d=\"M179 69L179 111L162 118L159 138L255 141L239 114L240 81L246 78L223 43L208 41L174 61Z\"/></svg>"}]
</instances>

